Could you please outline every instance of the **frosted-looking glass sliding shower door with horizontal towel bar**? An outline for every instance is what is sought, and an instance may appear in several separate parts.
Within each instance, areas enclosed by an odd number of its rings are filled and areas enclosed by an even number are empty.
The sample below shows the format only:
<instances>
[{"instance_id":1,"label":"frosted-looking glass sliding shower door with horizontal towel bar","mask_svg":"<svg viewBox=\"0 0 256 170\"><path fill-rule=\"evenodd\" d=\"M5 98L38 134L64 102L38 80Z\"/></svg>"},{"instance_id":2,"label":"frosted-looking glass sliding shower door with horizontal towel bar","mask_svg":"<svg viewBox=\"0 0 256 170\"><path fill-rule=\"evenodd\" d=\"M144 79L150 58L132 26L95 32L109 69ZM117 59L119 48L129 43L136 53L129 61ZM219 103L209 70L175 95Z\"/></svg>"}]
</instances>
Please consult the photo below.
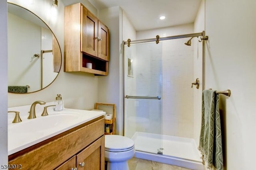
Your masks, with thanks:
<instances>
[{"instance_id":1,"label":"frosted-looking glass sliding shower door with horizontal towel bar","mask_svg":"<svg viewBox=\"0 0 256 170\"><path fill-rule=\"evenodd\" d=\"M124 46L124 97L124 136L134 140L136 150L161 154L161 42Z\"/></svg>"}]
</instances>

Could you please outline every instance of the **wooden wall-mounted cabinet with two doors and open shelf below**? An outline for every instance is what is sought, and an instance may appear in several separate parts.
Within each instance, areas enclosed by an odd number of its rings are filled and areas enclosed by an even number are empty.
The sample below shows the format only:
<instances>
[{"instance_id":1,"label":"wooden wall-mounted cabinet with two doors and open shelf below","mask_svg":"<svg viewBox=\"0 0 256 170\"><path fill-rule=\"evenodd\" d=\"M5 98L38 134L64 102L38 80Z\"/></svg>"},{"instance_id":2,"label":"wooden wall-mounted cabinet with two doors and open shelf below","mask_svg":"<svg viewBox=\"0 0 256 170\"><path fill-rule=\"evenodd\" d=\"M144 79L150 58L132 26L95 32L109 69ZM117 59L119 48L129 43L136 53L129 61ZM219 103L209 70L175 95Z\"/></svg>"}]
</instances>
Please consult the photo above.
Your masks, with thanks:
<instances>
[{"instance_id":1,"label":"wooden wall-mounted cabinet with two doors and open shelf below","mask_svg":"<svg viewBox=\"0 0 256 170\"><path fill-rule=\"evenodd\" d=\"M64 71L107 75L108 27L81 3L65 6L64 22Z\"/></svg>"}]
</instances>

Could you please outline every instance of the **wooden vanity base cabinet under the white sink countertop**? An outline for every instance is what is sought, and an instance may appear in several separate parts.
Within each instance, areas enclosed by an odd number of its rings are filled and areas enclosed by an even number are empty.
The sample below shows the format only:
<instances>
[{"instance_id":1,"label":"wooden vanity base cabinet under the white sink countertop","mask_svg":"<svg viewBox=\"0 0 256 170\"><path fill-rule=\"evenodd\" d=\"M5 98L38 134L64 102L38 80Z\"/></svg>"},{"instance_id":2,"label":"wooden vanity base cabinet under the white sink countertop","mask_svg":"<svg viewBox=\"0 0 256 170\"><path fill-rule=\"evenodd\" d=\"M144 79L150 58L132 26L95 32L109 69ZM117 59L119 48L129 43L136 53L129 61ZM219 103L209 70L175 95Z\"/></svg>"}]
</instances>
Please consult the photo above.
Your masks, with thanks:
<instances>
[{"instance_id":1,"label":"wooden vanity base cabinet under the white sink countertop","mask_svg":"<svg viewBox=\"0 0 256 170\"><path fill-rule=\"evenodd\" d=\"M9 155L30 170L104 170L104 117L98 117Z\"/></svg>"}]
</instances>

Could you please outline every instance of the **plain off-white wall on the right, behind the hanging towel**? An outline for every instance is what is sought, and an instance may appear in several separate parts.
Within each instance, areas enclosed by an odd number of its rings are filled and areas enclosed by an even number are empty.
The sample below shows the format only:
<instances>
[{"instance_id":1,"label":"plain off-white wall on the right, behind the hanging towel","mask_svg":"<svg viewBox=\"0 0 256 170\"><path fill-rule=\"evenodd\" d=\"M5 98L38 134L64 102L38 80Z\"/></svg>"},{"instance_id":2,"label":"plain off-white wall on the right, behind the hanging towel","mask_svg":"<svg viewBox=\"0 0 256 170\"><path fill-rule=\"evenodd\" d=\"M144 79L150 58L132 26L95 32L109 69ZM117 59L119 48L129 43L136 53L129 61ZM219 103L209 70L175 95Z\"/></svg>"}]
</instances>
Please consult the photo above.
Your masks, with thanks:
<instances>
[{"instance_id":1,"label":"plain off-white wall on the right, behind the hanging towel","mask_svg":"<svg viewBox=\"0 0 256 170\"><path fill-rule=\"evenodd\" d=\"M206 0L206 84L220 96L226 170L255 169L256 1Z\"/></svg>"}]
</instances>

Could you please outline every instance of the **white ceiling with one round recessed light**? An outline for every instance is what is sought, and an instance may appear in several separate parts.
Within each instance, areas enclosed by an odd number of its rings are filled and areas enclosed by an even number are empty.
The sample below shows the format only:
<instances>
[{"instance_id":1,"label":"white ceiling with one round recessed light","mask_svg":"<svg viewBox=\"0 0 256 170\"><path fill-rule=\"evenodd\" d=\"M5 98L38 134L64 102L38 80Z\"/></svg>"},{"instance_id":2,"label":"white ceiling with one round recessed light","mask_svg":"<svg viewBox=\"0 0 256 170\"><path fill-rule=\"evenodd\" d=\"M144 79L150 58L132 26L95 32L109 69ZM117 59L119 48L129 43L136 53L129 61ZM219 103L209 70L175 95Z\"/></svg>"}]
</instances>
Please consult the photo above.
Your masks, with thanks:
<instances>
[{"instance_id":1,"label":"white ceiling with one round recessed light","mask_svg":"<svg viewBox=\"0 0 256 170\"><path fill-rule=\"evenodd\" d=\"M193 23L201 0L88 0L98 10L120 6L136 31ZM160 16L165 20L159 20Z\"/></svg>"}]
</instances>

